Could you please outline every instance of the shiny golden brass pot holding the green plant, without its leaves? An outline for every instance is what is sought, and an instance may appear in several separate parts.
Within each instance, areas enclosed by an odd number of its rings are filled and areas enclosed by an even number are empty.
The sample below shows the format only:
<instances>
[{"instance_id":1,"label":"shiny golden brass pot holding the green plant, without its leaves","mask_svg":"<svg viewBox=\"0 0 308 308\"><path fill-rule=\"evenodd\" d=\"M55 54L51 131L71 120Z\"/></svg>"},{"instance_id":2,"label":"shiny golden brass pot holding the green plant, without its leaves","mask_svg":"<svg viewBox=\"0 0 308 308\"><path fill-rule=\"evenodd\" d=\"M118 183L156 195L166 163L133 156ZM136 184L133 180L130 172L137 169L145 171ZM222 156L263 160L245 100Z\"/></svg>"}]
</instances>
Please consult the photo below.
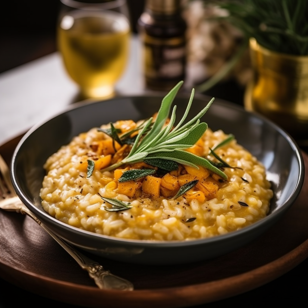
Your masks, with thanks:
<instances>
[{"instance_id":1,"label":"shiny golden brass pot holding the green plant, without its leaves","mask_svg":"<svg viewBox=\"0 0 308 308\"><path fill-rule=\"evenodd\" d=\"M280 54L249 41L253 77L246 87L245 109L286 130L299 146L308 146L308 56Z\"/></svg>"}]
</instances>

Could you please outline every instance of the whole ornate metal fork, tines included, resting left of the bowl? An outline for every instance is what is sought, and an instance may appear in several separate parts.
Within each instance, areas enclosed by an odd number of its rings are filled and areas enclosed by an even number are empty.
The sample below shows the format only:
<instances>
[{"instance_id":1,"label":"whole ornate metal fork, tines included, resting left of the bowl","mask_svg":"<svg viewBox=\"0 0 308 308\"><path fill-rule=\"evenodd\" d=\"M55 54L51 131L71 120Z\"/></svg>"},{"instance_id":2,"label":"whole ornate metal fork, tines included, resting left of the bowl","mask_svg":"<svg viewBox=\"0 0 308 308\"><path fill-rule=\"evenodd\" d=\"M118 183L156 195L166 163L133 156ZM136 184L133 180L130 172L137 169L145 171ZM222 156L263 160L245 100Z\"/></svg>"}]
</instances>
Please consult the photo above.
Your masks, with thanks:
<instances>
[{"instance_id":1,"label":"whole ornate metal fork, tines included, resting left of the bowl","mask_svg":"<svg viewBox=\"0 0 308 308\"><path fill-rule=\"evenodd\" d=\"M87 270L89 276L94 279L96 285L100 289L113 290L129 290L134 289L133 284L128 280L115 276L109 270L104 270L103 266L96 261L91 260L72 245L63 241L51 230L49 230L32 212L22 203L16 195L10 180L9 168L0 155L0 209L6 211L15 211L22 214L29 215L36 221L47 233L49 233L80 265L83 270Z\"/></svg>"}]
</instances>

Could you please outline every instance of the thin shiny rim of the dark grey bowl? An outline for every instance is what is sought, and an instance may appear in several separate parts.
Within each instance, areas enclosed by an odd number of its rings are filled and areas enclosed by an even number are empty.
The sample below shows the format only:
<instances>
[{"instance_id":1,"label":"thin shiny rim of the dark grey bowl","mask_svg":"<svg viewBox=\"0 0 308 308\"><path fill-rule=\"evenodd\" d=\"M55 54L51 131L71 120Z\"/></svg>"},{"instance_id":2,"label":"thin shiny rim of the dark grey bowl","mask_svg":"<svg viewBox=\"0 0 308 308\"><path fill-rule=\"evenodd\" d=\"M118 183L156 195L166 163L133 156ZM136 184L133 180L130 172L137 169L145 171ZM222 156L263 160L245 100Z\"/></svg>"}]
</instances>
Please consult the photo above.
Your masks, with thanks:
<instances>
[{"instance_id":1,"label":"thin shiny rim of the dark grey bowl","mask_svg":"<svg viewBox=\"0 0 308 308\"><path fill-rule=\"evenodd\" d=\"M101 104L101 103L111 103L114 100L119 100L119 99L147 99L147 98L157 98L157 99L162 99L164 97L164 94L162 93L154 93L154 94L140 94L140 95L128 95L128 96L117 96L114 98L110 98L107 100L92 100L92 99L86 99L83 101L76 102L74 104L71 104L64 108L62 111L59 111L55 115L52 115L48 117L47 119L41 120L37 124L33 125L25 134L22 136L21 140L18 142L16 148L14 149L13 156L11 158L10 162L10 177L12 181L13 188L18 195L18 197L22 200L22 202L27 206L27 208L36 215L36 213L39 214L39 216L43 216L44 218L47 219L47 221L50 221L51 224L56 224L60 225L61 228L63 228L65 231L73 232L73 233L78 233L82 236L91 236L94 237L95 239L98 240L107 240L107 241L112 241L116 243L125 243L126 245L133 245L133 246L143 246L143 247L148 247L148 246L155 246L155 247L179 247L179 246L195 246L195 245L204 245L205 243L213 243L213 242L220 242L220 241L227 241L229 238L233 238L234 236L239 236L243 233L247 233L249 231L252 231L254 229L257 229L259 225L264 225L267 221L272 220L273 216L277 217L280 216L281 212L285 212L287 209L290 208L290 206L294 203L294 201L297 199L303 182L304 182L304 160L302 157L301 150L298 146L298 144L295 142L292 136L288 132L286 132L283 128L279 127L277 124L272 122L271 120L267 119L265 116L257 114L256 112L253 111L247 111L245 110L242 106L237 105L235 103L226 101L224 99L215 99L216 103L219 104L224 108L230 108L233 110L236 110L238 112L244 112L244 113L249 113L251 116L258 118L262 122L265 122L269 126L271 126L275 131L277 131L280 135L282 135L287 143L290 145L291 149L293 150L293 153L295 157L297 158L297 163L298 163L298 178L296 180L296 184L294 185L294 190L292 195L288 197L286 202L283 204L283 206L279 207L277 210L275 210L274 213L270 213L270 215L263 217L259 221L254 222L251 225L248 225L242 229L235 230L232 232L228 232L225 234L220 234L220 235L215 235L213 237L206 237L206 238L200 238L200 239L194 239L194 240L172 240L172 241L156 241L156 240L136 240L136 239L126 239L126 238L118 238L118 237L112 237L108 235L103 235L99 233L94 233L90 232L87 230L83 230L71 225L68 225L62 221L57 220L55 217L52 217L49 215L47 212L45 212L43 209L39 209L37 206L35 206L23 193L22 189L18 185L18 180L16 179L16 157L18 156L18 153L22 147L22 144L27 140L27 138L37 129L39 129L41 126L43 126L45 123L51 121L52 119L63 115L67 112L70 112L72 110L78 109L78 108L86 108L86 106L91 105L91 104ZM177 98L189 98L188 93L179 93L177 95ZM209 99L208 95L203 95L203 94L195 94L194 99ZM245 147L245 145L243 145ZM37 216L37 215L36 215ZM275 218L274 217L274 218ZM38 217L39 218L39 217ZM44 223L44 222L43 222Z\"/></svg>"}]
</instances>

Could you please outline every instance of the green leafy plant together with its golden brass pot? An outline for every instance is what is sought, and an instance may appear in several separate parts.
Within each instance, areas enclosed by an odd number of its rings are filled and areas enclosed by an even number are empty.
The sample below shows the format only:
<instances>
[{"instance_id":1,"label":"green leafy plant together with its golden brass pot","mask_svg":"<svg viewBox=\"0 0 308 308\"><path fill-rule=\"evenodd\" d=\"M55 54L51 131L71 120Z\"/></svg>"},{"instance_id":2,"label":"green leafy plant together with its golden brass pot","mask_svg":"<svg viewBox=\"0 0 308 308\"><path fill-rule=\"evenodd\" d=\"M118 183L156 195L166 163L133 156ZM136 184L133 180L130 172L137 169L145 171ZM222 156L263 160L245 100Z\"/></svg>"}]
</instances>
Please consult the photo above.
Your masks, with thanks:
<instances>
[{"instance_id":1,"label":"green leafy plant together with its golden brass pot","mask_svg":"<svg viewBox=\"0 0 308 308\"><path fill-rule=\"evenodd\" d=\"M245 108L270 118L300 146L308 146L308 1L203 3L224 9L225 16L218 18L247 38L253 76L246 86Z\"/></svg>"}]
</instances>

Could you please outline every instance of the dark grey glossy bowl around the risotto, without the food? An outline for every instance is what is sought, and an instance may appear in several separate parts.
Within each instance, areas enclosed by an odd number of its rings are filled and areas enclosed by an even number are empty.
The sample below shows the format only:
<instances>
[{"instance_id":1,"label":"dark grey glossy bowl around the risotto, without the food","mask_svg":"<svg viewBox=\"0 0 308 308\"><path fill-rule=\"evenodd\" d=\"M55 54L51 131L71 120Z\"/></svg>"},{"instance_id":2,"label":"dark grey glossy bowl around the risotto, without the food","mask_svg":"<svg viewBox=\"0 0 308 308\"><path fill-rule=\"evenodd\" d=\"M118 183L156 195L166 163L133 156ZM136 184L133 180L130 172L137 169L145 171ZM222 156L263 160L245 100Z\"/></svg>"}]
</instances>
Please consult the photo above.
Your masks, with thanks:
<instances>
[{"instance_id":1,"label":"dark grey glossy bowl around the risotto, without the food","mask_svg":"<svg viewBox=\"0 0 308 308\"><path fill-rule=\"evenodd\" d=\"M19 142L11 161L11 179L23 203L59 237L88 252L113 260L139 264L180 264L218 257L260 236L282 217L302 188L304 164L293 139L265 118L242 107L216 99L203 120L213 130L235 135L267 169L274 198L270 213L239 231L195 241L136 241L103 236L64 224L46 213L39 190L48 156L72 137L92 127L116 120L139 120L158 111L163 96L115 98L95 103L81 102L65 112L31 128ZM177 118L184 112L189 96L178 95ZM209 97L195 95L191 115L196 115ZM189 119L189 116L188 116Z\"/></svg>"}]
</instances>

